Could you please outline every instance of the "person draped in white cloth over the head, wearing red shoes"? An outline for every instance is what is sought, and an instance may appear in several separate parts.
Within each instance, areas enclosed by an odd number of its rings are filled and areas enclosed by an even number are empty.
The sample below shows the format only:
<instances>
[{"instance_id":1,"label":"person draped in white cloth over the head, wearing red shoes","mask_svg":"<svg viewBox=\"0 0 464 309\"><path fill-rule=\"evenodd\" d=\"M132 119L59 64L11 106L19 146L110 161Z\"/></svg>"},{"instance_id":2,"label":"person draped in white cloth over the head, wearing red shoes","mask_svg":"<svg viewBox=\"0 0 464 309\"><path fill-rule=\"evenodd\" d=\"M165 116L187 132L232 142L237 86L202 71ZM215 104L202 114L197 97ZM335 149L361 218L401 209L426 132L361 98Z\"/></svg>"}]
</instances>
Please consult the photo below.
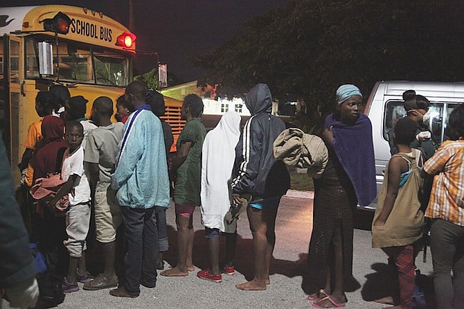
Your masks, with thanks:
<instances>
[{"instance_id":1,"label":"person draped in white cloth over the head, wearing red shoes","mask_svg":"<svg viewBox=\"0 0 464 309\"><path fill-rule=\"evenodd\" d=\"M211 269L200 270L200 279L222 282L219 269L219 231L226 236L226 261L222 272L234 274L233 257L237 243L237 220L227 222L231 207L229 184L235 160L235 145L240 138L241 117L237 112L224 114L217 126L206 134L202 150L202 222L208 238Z\"/></svg>"}]
</instances>

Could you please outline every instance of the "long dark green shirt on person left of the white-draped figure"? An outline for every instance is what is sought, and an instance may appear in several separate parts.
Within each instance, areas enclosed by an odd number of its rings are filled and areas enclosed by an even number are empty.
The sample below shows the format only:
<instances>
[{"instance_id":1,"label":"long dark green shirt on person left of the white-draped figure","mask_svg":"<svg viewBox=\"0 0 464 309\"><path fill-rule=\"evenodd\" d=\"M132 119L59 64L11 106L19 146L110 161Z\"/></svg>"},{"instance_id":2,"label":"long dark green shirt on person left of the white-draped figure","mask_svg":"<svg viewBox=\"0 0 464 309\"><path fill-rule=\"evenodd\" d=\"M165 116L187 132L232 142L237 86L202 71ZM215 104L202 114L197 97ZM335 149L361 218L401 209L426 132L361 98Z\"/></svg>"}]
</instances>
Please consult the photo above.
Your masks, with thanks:
<instances>
[{"instance_id":1,"label":"long dark green shirt on person left of the white-draped figure","mask_svg":"<svg viewBox=\"0 0 464 309\"><path fill-rule=\"evenodd\" d=\"M202 180L202 148L206 129L200 118L188 121L177 139L177 149L188 141L193 145L188 150L187 158L177 169L174 201L177 204L199 206L199 192Z\"/></svg>"}]
</instances>

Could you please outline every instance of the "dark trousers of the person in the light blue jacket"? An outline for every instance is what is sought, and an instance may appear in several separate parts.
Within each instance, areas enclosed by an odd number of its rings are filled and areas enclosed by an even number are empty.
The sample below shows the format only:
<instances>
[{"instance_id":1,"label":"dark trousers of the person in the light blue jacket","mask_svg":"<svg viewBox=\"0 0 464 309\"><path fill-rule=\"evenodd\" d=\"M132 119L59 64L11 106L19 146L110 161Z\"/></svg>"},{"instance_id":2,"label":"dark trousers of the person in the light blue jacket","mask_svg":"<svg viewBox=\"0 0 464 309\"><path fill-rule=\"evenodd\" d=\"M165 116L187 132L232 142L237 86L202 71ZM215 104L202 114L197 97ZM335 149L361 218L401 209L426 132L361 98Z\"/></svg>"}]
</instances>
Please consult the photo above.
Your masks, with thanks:
<instances>
[{"instance_id":1,"label":"dark trousers of the person in the light blue jacket","mask_svg":"<svg viewBox=\"0 0 464 309\"><path fill-rule=\"evenodd\" d=\"M140 294L140 284L154 288L157 283L158 229L154 208L123 207L127 252L124 258L125 290Z\"/></svg>"}]
</instances>

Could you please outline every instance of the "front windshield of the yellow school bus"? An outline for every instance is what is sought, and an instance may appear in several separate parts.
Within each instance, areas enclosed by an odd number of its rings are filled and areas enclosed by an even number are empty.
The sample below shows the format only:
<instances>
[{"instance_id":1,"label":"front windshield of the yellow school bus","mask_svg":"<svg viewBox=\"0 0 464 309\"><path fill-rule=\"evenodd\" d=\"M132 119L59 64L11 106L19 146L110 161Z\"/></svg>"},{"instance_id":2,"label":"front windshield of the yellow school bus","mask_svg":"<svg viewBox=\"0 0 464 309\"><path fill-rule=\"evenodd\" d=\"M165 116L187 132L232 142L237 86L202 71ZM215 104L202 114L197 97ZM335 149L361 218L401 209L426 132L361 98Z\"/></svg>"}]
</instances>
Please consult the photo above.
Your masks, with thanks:
<instances>
[{"instance_id":1,"label":"front windshield of the yellow school bus","mask_svg":"<svg viewBox=\"0 0 464 309\"><path fill-rule=\"evenodd\" d=\"M26 78L39 78L39 41L41 40L35 37L29 37L26 41ZM47 41L53 42L49 39ZM130 80L129 64L130 57L124 53L60 39L58 55L56 44L53 43L53 75L42 77L58 78L62 82L124 87Z\"/></svg>"}]
</instances>

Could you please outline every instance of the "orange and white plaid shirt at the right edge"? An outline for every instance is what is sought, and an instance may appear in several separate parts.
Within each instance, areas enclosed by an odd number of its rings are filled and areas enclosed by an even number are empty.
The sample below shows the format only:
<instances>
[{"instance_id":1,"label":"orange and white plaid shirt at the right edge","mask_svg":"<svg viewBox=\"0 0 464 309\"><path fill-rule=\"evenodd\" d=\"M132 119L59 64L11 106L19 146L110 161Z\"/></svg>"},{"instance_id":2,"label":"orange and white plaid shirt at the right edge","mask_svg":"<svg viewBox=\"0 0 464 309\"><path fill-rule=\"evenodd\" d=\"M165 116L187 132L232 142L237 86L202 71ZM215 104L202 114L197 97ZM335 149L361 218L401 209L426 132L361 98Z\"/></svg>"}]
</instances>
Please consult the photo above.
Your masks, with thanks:
<instances>
[{"instance_id":1,"label":"orange and white plaid shirt at the right edge","mask_svg":"<svg viewBox=\"0 0 464 309\"><path fill-rule=\"evenodd\" d=\"M424 170L435 175L425 216L464 226L464 140L445 141Z\"/></svg>"}]
</instances>

